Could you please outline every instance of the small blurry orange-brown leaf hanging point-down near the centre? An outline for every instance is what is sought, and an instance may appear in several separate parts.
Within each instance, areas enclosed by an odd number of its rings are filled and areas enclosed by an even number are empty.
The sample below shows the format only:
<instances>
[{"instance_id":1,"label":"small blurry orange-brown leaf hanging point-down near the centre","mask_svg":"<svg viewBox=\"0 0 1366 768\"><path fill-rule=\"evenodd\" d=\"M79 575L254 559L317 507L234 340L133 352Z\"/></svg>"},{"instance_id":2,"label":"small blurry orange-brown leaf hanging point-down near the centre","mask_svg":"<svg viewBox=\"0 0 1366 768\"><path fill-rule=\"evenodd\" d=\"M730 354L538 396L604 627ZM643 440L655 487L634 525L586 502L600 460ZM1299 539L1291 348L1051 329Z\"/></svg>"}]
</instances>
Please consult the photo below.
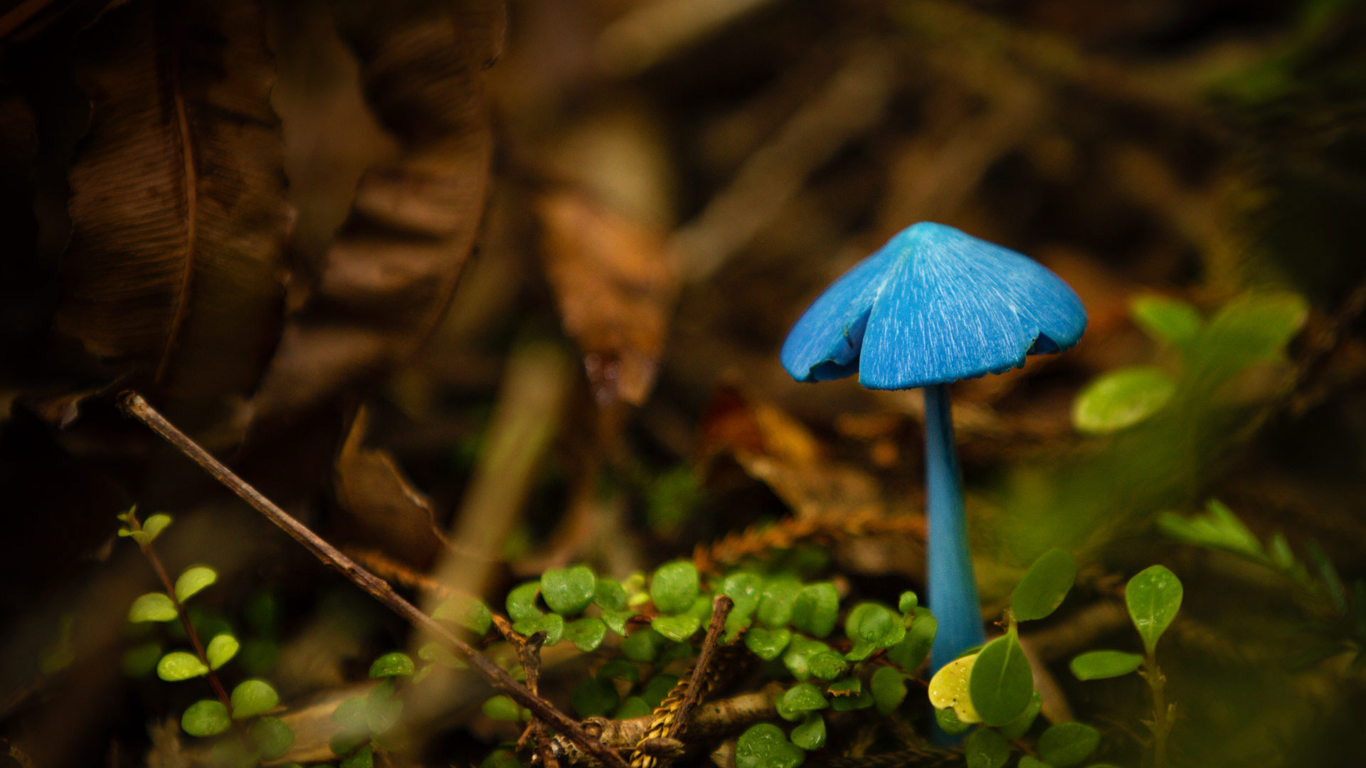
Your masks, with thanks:
<instances>
[{"instance_id":1,"label":"small blurry orange-brown leaf hanging point-down near the centre","mask_svg":"<svg viewBox=\"0 0 1366 768\"><path fill-rule=\"evenodd\" d=\"M541 195L537 212L546 277L597 402L643 403L679 287L663 234L574 190Z\"/></svg>"}]
</instances>

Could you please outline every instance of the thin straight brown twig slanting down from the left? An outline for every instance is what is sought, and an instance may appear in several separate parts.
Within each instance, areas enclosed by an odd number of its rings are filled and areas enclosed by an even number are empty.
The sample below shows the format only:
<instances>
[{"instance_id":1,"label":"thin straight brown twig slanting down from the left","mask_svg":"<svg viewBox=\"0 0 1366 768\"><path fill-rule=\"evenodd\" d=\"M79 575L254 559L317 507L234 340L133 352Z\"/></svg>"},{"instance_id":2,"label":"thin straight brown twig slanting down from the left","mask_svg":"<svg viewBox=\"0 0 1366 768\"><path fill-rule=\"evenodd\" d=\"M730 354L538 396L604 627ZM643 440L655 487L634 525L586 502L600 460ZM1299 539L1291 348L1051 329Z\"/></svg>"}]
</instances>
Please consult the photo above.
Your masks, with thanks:
<instances>
[{"instance_id":1,"label":"thin straight brown twig slanting down from the left","mask_svg":"<svg viewBox=\"0 0 1366 768\"><path fill-rule=\"evenodd\" d=\"M627 764L620 754L602 746L602 742L590 737L578 722L571 720L567 715L556 709L553 704L540 696L535 696L527 690L526 686L514 681L512 676L504 672L501 667L485 659L484 655L456 637L440 622L428 616L419 611L417 605L404 600L398 592L393 590L392 586L389 586L387 581L362 568L354 560L343 555L336 547L328 544L322 537L309 530L307 526L290 517L284 510L275 506L273 502L261 495L260 491L234 474L232 470L214 459L198 443L176 429L173 424L157 413L156 409L142 399L142 395L131 391L123 392L119 395L119 407L122 407L126 414L137 418L142 424L146 424L153 432L165 439L167 443L171 443L182 454L193 459L194 463L204 467L204 470L213 476L214 480L227 485L228 489L240 496L243 502L251 504L251 507L265 515L268 521L279 526L290 534L291 538L298 541L299 545L311 552L314 558L340 571L342 575L351 581L351 584L359 586L370 597L382 603L387 608L402 616L413 626L432 633L432 635L441 642L441 645L445 645L456 656L463 659L475 672L489 681L489 685L508 694L508 697L522 707L530 709L542 722L563 732L570 741L591 753L604 764L613 768L627 768Z\"/></svg>"}]
</instances>

